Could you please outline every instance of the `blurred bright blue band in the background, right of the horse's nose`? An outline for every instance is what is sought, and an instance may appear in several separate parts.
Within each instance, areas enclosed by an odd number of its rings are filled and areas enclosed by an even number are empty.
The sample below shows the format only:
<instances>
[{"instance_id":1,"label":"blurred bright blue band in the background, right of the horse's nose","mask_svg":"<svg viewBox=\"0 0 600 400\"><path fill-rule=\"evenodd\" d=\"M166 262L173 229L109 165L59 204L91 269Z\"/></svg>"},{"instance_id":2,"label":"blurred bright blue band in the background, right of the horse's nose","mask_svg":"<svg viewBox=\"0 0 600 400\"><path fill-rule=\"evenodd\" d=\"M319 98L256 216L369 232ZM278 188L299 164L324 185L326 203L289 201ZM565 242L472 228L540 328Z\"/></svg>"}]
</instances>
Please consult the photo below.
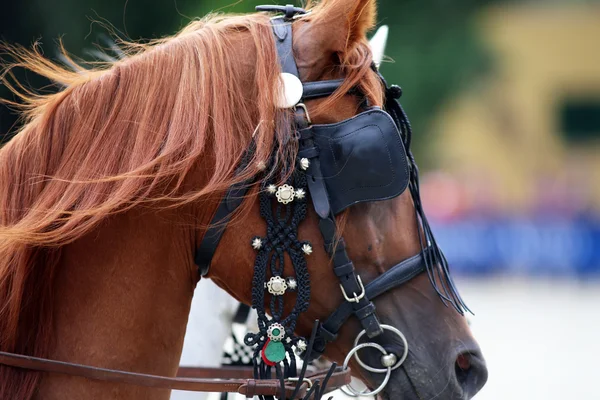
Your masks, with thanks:
<instances>
[{"instance_id":1,"label":"blurred bright blue band in the background, right of the horse's nose","mask_svg":"<svg viewBox=\"0 0 600 400\"><path fill-rule=\"evenodd\" d=\"M600 277L600 219L594 215L431 222L459 274Z\"/></svg>"}]
</instances>

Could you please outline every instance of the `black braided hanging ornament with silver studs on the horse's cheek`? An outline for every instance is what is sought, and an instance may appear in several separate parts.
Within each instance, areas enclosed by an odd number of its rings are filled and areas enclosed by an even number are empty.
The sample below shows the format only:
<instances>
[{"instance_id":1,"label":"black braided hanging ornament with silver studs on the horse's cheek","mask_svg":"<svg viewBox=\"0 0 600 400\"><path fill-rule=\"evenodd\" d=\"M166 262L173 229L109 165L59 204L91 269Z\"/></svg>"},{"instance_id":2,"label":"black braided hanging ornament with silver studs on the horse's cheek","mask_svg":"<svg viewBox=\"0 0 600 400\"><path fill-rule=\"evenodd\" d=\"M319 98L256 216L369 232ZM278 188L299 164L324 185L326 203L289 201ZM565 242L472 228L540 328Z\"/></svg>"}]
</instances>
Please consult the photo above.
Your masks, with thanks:
<instances>
[{"instance_id":1,"label":"black braided hanging ornament with silver studs on the horse's cheek","mask_svg":"<svg viewBox=\"0 0 600 400\"><path fill-rule=\"evenodd\" d=\"M300 313L308 309L310 277L306 257L312 253L309 242L298 238L298 226L305 219L308 196L306 175L293 172L280 186L261 183L260 215L267 224L266 236L256 236L251 245L257 251L252 280L252 307L258 314L257 333L248 333L244 342L255 346L253 354L256 379L270 379L275 367L279 379L294 377L296 356L306 351L304 338L295 337ZM295 276L284 276L284 260L288 255ZM265 309L265 291L271 294L270 316ZM284 315L284 295L296 293L294 308ZM283 364L283 370L281 369Z\"/></svg>"}]
</instances>

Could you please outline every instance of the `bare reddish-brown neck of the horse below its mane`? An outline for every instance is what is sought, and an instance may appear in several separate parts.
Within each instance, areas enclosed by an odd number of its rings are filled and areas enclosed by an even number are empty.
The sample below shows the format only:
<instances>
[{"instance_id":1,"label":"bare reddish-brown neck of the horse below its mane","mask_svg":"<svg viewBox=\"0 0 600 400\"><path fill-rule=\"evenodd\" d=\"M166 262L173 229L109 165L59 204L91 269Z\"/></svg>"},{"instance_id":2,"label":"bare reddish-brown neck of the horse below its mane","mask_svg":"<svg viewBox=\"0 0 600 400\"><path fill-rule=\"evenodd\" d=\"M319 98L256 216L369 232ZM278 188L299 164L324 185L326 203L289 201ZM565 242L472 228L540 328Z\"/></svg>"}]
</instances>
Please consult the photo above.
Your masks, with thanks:
<instances>
[{"instance_id":1,"label":"bare reddish-brown neck of the horse below its mane","mask_svg":"<svg viewBox=\"0 0 600 400\"><path fill-rule=\"evenodd\" d=\"M130 211L63 248L49 357L174 376L197 274L193 226L174 210ZM169 392L47 375L44 400L167 399Z\"/></svg>"}]
</instances>

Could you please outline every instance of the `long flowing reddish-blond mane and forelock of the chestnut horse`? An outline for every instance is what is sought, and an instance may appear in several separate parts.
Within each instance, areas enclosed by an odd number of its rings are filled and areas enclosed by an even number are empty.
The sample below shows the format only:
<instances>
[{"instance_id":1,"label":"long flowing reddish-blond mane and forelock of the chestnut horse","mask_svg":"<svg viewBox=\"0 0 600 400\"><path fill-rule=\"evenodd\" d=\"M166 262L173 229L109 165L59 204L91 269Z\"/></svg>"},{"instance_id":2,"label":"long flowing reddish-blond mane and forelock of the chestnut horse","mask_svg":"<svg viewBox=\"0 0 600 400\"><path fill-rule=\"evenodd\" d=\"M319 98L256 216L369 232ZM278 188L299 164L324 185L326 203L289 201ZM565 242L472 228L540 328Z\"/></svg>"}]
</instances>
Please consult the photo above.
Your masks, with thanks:
<instances>
[{"instance_id":1,"label":"long flowing reddish-blond mane and forelock of the chestnut horse","mask_svg":"<svg viewBox=\"0 0 600 400\"><path fill-rule=\"evenodd\" d=\"M242 35L253 44L246 64L234 45ZM26 123L0 149L2 351L47 356L61 248L108 216L222 192L257 174L274 148L293 168L293 149L276 146L287 142L276 129L287 114L274 107L279 68L267 15L210 16L173 37L122 47L121 60L73 71L35 48L3 45L15 61L1 65L0 80L22 100L13 105ZM344 60L346 83L333 99L358 85L380 102L379 82L366 78L367 44ZM13 68L63 89L38 94L11 79ZM254 160L234 174L252 137ZM186 177L200 161L208 181L190 189ZM30 399L40 376L0 365L0 398Z\"/></svg>"}]
</instances>

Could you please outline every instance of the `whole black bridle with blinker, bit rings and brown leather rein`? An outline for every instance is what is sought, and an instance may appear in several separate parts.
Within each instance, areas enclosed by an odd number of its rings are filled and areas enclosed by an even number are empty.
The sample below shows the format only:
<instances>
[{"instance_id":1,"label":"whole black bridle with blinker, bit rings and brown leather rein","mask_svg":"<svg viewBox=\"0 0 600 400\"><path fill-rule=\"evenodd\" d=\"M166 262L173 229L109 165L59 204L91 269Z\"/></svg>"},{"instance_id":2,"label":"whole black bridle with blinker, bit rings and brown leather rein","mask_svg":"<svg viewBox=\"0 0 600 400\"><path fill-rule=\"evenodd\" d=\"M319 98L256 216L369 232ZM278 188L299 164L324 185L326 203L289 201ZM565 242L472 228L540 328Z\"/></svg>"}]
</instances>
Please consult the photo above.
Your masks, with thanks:
<instances>
[{"instance_id":1,"label":"whole black bridle with blinker, bit rings and brown leather rein","mask_svg":"<svg viewBox=\"0 0 600 400\"><path fill-rule=\"evenodd\" d=\"M284 13L283 16L271 19L281 71L299 80L292 51L292 22L306 12L290 5L259 6L257 10ZM298 143L296 168L281 171L279 177L270 176L267 172L269 167L274 169L279 165L277 160L272 159L268 165L264 165L265 172L260 177L230 187L217 207L210 228L196 251L195 262L201 276L205 276L227 222L241 205L250 187L258 181L261 216L267 223L267 233L266 236L255 237L251 243L257 251L252 305L259 315L259 332L248 334L245 342L255 347L253 369L181 367L178 377L172 378L8 352L0 352L0 364L158 388L238 392L247 397L261 396L268 399L273 396L286 399L320 399L326 389L332 390L350 383L350 371L347 366L351 358L356 357L363 368L373 373L385 373L385 378L377 389L369 393L358 392L350 386L347 386L345 391L352 396L359 396L374 395L383 390L391 372L405 361L408 342L397 328L380 323L373 299L427 272L431 284L445 304L452 305L461 314L468 308L454 286L446 259L436 244L423 212L418 170L410 152L411 128L406 114L397 102L401 90L397 86L388 87L377 68L374 67L374 71L385 88L385 111L368 108L367 111L337 124L313 125L304 104L295 104L291 113L293 121L288 127L279 128L288 129L289 140L296 140ZM343 79L302 82L301 101L330 96L342 84ZM372 169L379 168L380 172L385 172L382 176L391 176L388 179L389 183L377 187L361 186L357 181L361 178L360 174L352 172L352 159L343 159L352 153L346 150L352 150L353 146L365 142L364 138L354 139L357 132L361 135L369 132L375 132L377 135L381 133L381 136L375 136L377 140L367 140L372 146L363 150L367 155L384 152L389 156L389 163L383 164L377 164L377 158L381 157L370 158ZM332 149L331 154L323 150L327 146ZM251 144L238 166L238 171L248 167L253 155L254 144ZM339 167L336 157L342 157L343 168ZM362 178L370 179L369 176ZM278 185L272 183L275 180ZM338 235L335 216L353 204L393 198L407 188L415 206L415 218L423 230L424 240L420 237L422 251L389 268L371 282L363 284L348 256L344 239ZM310 256L313 249L310 243L301 241L297 236L297 228L306 216L309 198L318 215L325 250L332 260L333 272L340 281L340 290L345 301L323 323L315 323L307 342L303 338L295 337L294 330L298 315L306 311L310 299L310 281L305 258ZM293 277L283 276L284 254L292 259L295 272ZM296 292L296 303L293 311L284 315L283 297L286 292L291 291ZM271 294L268 312L264 307L265 292ZM353 315L358 318L363 330L357 336L343 366L337 367L334 363L329 369L307 374L308 363L323 354L326 345L336 340L342 325ZM373 339L381 336L384 331L397 335L402 341L404 348L400 356L388 353L377 343L360 343L363 336ZM382 353L381 367L369 366L358 357L358 351L366 347ZM304 359L300 371L296 366L296 354ZM272 377L272 369L275 369L275 378Z\"/></svg>"}]
</instances>

